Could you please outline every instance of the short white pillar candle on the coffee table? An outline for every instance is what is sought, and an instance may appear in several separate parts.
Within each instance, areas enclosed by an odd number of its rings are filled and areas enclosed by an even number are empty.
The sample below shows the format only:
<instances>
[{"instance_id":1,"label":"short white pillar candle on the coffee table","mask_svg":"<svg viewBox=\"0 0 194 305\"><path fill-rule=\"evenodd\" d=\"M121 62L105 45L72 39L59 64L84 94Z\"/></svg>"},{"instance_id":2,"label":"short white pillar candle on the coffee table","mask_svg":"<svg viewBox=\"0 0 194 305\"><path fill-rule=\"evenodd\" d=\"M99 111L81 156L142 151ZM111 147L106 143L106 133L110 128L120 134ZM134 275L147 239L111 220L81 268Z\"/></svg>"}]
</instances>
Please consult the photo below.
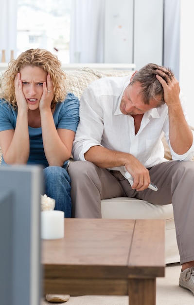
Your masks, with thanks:
<instances>
[{"instance_id":1,"label":"short white pillar candle on the coffee table","mask_svg":"<svg viewBox=\"0 0 194 305\"><path fill-rule=\"evenodd\" d=\"M64 212L41 211L41 238L57 239L64 237Z\"/></svg>"}]
</instances>

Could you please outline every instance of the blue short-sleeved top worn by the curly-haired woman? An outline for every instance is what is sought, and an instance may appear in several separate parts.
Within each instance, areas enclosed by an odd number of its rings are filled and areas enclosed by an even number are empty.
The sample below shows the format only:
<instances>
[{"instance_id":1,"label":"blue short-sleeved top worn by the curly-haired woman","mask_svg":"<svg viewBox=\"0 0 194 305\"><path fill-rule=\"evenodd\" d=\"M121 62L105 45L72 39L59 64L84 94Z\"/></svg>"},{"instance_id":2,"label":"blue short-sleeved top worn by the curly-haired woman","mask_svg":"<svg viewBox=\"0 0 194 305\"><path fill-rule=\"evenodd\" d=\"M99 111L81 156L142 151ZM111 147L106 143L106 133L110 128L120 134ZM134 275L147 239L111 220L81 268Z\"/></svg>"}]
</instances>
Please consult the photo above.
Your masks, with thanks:
<instances>
[{"instance_id":1,"label":"blue short-sleeved top worn by the curly-haired woman","mask_svg":"<svg viewBox=\"0 0 194 305\"><path fill-rule=\"evenodd\" d=\"M0 99L0 131L15 129L17 115L18 110L14 110L9 103ZM79 99L74 94L68 93L62 103L56 103L53 119L56 129L63 128L76 132L79 122ZM39 164L43 167L49 166L43 148L42 128L28 126L28 130L30 136L30 155L27 163ZM3 156L1 164L6 164Z\"/></svg>"}]
</instances>

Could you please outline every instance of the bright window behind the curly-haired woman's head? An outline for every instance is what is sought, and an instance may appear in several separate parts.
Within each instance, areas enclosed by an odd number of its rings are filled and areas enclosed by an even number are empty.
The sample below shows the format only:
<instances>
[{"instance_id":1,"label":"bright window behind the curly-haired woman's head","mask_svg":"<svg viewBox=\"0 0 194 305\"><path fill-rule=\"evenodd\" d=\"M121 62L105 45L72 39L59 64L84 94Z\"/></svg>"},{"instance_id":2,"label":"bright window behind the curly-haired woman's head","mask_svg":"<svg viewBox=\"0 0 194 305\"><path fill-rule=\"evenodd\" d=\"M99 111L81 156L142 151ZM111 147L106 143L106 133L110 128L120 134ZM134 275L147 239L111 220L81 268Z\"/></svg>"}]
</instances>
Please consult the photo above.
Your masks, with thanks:
<instances>
[{"instance_id":1,"label":"bright window behind the curly-haired woman's head","mask_svg":"<svg viewBox=\"0 0 194 305\"><path fill-rule=\"evenodd\" d=\"M70 62L71 0L18 0L17 56L42 48Z\"/></svg>"}]
</instances>

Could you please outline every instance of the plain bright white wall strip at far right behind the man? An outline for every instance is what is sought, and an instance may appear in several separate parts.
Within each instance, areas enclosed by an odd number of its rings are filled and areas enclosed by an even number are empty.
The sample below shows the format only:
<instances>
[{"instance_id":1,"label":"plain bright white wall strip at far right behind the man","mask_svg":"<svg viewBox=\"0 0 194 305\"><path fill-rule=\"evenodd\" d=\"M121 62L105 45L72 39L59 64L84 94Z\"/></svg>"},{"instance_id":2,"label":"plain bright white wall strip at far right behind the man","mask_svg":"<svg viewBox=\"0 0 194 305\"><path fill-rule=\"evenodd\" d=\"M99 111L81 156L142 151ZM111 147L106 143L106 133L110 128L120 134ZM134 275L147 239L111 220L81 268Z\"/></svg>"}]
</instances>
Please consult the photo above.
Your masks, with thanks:
<instances>
[{"instance_id":1,"label":"plain bright white wall strip at far right behind the man","mask_svg":"<svg viewBox=\"0 0 194 305\"><path fill-rule=\"evenodd\" d=\"M189 123L194 126L194 0L180 3L179 84L187 98Z\"/></svg>"}]
</instances>

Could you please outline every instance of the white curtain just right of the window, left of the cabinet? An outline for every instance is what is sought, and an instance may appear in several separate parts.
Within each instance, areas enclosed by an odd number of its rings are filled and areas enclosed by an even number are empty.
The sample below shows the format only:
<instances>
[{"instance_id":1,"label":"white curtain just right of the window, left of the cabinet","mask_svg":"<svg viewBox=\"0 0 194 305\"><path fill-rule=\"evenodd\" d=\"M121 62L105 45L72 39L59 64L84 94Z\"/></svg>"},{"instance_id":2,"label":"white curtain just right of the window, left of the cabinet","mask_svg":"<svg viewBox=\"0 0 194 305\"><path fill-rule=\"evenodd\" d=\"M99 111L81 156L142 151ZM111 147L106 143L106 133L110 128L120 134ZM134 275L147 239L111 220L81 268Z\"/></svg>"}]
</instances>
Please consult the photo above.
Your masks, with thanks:
<instances>
[{"instance_id":1,"label":"white curtain just right of the window, left of the cabinet","mask_svg":"<svg viewBox=\"0 0 194 305\"><path fill-rule=\"evenodd\" d=\"M105 0L72 0L70 62L104 61Z\"/></svg>"}]
</instances>

